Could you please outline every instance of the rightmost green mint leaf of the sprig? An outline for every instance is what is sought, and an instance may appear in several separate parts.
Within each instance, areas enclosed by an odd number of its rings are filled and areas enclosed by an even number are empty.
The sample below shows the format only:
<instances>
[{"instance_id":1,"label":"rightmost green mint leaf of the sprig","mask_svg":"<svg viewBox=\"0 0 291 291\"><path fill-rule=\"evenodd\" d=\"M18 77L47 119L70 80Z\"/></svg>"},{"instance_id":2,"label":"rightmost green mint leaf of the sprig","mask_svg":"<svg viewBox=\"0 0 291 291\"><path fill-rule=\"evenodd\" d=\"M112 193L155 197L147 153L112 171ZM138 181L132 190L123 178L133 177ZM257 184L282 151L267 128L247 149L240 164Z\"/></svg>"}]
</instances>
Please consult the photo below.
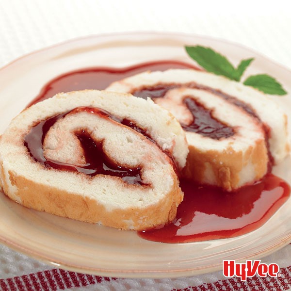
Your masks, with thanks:
<instances>
[{"instance_id":1,"label":"rightmost green mint leaf of the sprig","mask_svg":"<svg viewBox=\"0 0 291 291\"><path fill-rule=\"evenodd\" d=\"M252 86L258 90L271 95L286 95L287 92L282 85L273 77L267 74L260 74L248 77L244 82L246 86Z\"/></svg>"}]
</instances>

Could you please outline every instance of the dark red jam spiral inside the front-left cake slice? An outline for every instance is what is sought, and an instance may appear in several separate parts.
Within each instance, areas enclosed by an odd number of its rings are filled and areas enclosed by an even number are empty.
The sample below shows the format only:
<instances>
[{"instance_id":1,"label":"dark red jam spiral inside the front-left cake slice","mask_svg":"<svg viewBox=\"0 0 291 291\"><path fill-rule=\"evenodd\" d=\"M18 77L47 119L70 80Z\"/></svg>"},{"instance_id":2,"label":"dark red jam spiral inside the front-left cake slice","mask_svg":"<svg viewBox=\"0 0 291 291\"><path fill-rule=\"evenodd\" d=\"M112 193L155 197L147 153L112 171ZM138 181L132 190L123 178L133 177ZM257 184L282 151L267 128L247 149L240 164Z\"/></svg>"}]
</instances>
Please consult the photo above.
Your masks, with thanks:
<instances>
[{"instance_id":1,"label":"dark red jam spiral inside the front-left cake slice","mask_svg":"<svg viewBox=\"0 0 291 291\"><path fill-rule=\"evenodd\" d=\"M27 147L28 152L35 162L43 164L45 167L55 168L64 171L73 171L84 173L90 177L96 175L110 175L122 178L128 184L148 185L143 182L141 176L141 167L129 168L124 165L119 165L113 162L110 157L106 155L103 150L103 140L96 141L92 138L91 134L86 129L79 129L75 131L75 136L79 139L83 155L85 158L85 165L78 166L71 163L64 163L46 159L44 156L44 140L49 129L61 118L68 114L87 112L97 114L104 118L112 119L120 124L123 124L135 131L146 136L148 140L156 144L156 142L146 133L145 129L141 129L134 122L128 119L120 119L102 109L93 107L78 107L67 113L54 115L46 120L43 120L32 127L30 132L24 138L24 146ZM157 145L157 144L156 144ZM158 146L158 145L157 145ZM170 159L173 161L172 159ZM173 162L175 170L175 164Z\"/></svg>"}]
</instances>

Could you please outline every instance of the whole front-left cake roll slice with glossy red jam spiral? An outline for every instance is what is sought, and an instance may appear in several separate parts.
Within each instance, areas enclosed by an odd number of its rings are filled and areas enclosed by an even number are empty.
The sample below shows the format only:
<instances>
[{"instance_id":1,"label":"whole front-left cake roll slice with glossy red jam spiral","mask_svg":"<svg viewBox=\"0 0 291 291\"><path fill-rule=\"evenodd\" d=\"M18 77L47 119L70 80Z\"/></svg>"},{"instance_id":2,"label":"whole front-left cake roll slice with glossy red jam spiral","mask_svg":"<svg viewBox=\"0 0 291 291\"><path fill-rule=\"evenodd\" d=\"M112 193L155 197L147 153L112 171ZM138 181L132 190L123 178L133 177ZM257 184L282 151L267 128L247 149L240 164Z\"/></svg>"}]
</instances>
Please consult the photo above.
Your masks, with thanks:
<instances>
[{"instance_id":1,"label":"whole front-left cake roll slice with glossy red jam spiral","mask_svg":"<svg viewBox=\"0 0 291 291\"><path fill-rule=\"evenodd\" d=\"M175 218L187 154L178 121L151 100L61 93L24 110L3 133L0 184L28 208L143 230Z\"/></svg>"}]
</instances>

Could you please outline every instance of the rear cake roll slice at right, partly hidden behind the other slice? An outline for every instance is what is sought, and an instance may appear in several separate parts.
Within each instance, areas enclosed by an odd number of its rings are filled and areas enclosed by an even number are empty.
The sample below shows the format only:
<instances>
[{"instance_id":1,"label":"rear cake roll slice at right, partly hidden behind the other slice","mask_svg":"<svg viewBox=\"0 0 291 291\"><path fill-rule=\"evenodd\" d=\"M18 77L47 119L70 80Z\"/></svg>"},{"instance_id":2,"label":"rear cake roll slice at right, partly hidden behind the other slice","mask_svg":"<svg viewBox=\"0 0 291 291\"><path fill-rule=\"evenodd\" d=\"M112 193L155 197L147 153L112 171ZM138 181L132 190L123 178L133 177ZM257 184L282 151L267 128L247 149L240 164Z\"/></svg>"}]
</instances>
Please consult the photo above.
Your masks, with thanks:
<instances>
[{"instance_id":1,"label":"rear cake roll slice at right, partly hidden behind the other slice","mask_svg":"<svg viewBox=\"0 0 291 291\"><path fill-rule=\"evenodd\" d=\"M287 117L267 95L192 69L145 72L108 91L150 97L177 117L189 156L184 175L234 191L262 178L289 152Z\"/></svg>"}]
</instances>

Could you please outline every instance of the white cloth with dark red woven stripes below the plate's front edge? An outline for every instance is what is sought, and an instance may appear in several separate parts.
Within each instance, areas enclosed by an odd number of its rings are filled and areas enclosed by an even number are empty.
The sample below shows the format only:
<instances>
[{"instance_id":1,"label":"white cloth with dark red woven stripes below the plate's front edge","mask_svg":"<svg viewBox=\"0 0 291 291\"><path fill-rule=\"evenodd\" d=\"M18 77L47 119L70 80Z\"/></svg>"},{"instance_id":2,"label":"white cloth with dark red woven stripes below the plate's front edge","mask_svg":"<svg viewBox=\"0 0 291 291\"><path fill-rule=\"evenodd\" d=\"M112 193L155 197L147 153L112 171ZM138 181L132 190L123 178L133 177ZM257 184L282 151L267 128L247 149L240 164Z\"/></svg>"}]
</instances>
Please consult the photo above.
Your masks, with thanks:
<instances>
[{"instance_id":1,"label":"white cloth with dark red woven stripes below the plate's front edge","mask_svg":"<svg viewBox=\"0 0 291 291\"><path fill-rule=\"evenodd\" d=\"M258 275L242 282L222 271L179 278L115 278L86 275L52 266L0 245L0 291L282 291L291 290L291 244L261 259L277 263L278 277Z\"/></svg>"}]
</instances>

